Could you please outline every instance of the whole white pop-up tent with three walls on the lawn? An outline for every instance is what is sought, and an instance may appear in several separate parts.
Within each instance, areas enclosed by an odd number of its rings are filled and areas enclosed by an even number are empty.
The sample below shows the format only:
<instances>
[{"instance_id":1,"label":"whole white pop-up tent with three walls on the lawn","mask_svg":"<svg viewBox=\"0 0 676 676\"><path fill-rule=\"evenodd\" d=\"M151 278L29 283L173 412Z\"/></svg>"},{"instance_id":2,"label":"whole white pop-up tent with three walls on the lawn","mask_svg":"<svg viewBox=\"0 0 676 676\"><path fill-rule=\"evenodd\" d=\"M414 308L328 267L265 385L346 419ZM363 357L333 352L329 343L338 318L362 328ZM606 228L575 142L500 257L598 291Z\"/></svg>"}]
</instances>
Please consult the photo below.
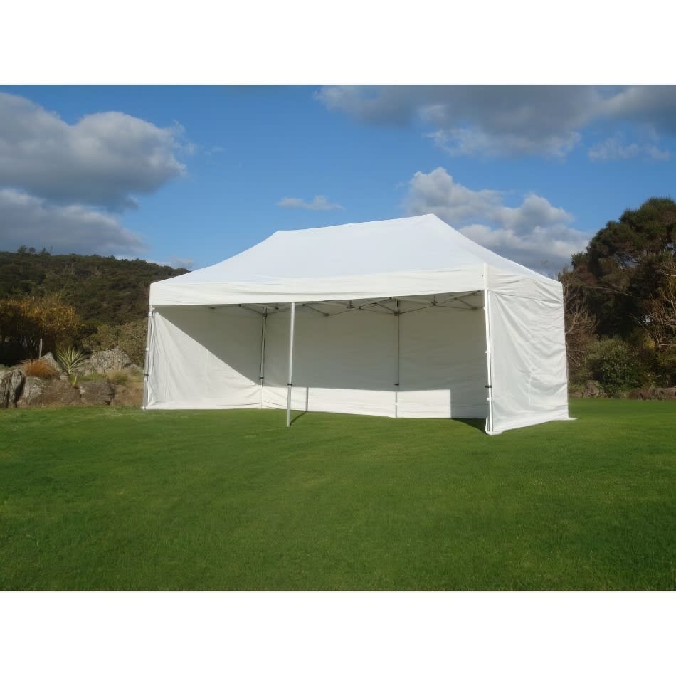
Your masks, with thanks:
<instances>
[{"instance_id":1,"label":"whole white pop-up tent with three walls on the lawn","mask_svg":"<svg viewBox=\"0 0 676 676\"><path fill-rule=\"evenodd\" d=\"M561 284L433 215L278 231L149 305L145 408L568 418Z\"/></svg>"}]
</instances>

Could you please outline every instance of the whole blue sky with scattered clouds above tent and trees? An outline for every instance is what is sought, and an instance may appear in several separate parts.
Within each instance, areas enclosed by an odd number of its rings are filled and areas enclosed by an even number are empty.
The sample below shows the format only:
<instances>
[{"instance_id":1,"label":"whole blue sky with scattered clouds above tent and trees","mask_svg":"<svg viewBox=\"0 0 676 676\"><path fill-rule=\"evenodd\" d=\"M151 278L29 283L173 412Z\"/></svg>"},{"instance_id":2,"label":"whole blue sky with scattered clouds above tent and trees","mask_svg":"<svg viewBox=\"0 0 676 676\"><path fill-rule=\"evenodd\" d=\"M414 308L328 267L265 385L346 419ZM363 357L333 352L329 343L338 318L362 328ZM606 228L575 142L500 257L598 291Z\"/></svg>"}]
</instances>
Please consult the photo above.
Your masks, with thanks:
<instances>
[{"instance_id":1,"label":"whole blue sky with scattered clouds above tent and trees","mask_svg":"<svg viewBox=\"0 0 676 676\"><path fill-rule=\"evenodd\" d=\"M196 269L278 229L436 213L553 274L676 197L676 87L0 87L0 250Z\"/></svg>"}]
</instances>

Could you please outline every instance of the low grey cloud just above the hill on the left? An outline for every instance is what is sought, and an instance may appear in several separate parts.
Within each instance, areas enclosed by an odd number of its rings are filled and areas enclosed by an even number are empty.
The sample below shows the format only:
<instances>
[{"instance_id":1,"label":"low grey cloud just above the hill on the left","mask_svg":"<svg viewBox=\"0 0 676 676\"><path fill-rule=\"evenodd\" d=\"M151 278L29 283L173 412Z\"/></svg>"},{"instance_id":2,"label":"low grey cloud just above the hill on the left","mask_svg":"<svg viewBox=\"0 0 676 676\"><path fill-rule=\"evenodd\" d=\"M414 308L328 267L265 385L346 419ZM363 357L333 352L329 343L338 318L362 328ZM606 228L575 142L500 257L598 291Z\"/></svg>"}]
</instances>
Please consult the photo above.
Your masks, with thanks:
<instances>
[{"instance_id":1,"label":"low grey cloud just above the hill on the left","mask_svg":"<svg viewBox=\"0 0 676 676\"><path fill-rule=\"evenodd\" d=\"M79 204L49 204L20 191L0 189L0 250L15 251L21 245L52 253L127 256L148 248L110 214Z\"/></svg>"}]
</instances>

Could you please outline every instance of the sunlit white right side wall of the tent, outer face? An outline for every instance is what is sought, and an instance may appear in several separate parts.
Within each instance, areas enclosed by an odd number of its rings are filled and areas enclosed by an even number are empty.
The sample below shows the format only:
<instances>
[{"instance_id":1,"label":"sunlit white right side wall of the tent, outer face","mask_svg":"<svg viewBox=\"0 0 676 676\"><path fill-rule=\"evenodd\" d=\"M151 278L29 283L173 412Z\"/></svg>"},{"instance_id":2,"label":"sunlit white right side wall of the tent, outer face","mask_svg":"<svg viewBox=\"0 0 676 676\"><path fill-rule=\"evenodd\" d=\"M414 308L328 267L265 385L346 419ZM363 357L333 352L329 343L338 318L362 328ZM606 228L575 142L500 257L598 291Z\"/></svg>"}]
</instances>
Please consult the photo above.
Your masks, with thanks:
<instances>
[{"instance_id":1,"label":"sunlit white right side wall of the tent, outer face","mask_svg":"<svg viewBox=\"0 0 676 676\"><path fill-rule=\"evenodd\" d=\"M495 269L489 279L493 432L568 420L561 285Z\"/></svg>"}]
</instances>

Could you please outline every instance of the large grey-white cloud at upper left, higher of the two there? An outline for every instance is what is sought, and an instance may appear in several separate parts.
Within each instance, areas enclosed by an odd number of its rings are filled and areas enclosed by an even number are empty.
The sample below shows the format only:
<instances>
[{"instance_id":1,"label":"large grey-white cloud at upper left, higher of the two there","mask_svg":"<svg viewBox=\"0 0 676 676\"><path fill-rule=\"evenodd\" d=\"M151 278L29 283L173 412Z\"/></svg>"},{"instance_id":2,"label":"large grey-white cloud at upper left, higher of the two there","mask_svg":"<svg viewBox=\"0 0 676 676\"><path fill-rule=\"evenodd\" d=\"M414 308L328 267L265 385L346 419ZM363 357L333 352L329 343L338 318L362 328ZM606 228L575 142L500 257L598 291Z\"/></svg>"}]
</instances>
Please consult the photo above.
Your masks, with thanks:
<instances>
[{"instance_id":1,"label":"large grey-white cloud at upper left, higher of the two there","mask_svg":"<svg viewBox=\"0 0 676 676\"><path fill-rule=\"evenodd\" d=\"M122 112L85 115L74 125L28 99L0 93L0 186L60 203L134 206L184 174L176 159L184 130Z\"/></svg>"}]
</instances>

